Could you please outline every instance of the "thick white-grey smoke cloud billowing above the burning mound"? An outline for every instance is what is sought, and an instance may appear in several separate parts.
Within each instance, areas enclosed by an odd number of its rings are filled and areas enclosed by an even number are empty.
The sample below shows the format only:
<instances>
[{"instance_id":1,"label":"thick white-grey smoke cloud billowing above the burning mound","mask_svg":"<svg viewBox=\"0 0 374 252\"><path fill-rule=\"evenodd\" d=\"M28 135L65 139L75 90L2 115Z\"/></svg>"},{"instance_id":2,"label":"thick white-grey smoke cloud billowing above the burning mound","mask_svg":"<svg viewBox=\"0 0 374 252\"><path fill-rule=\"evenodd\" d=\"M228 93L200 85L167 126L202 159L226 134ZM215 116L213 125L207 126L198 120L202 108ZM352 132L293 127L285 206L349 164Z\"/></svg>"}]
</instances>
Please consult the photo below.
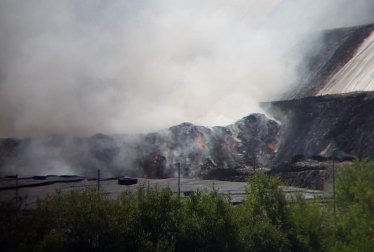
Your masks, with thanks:
<instances>
[{"instance_id":1,"label":"thick white-grey smoke cloud billowing above the burning mound","mask_svg":"<svg viewBox=\"0 0 374 252\"><path fill-rule=\"evenodd\" d=\"M227 125L260 112L297 83L313 48L295 47L300 34L365 22L358 10L371 2L281 1L0 0L0 137Z\"/></svg>"}]
</instances>

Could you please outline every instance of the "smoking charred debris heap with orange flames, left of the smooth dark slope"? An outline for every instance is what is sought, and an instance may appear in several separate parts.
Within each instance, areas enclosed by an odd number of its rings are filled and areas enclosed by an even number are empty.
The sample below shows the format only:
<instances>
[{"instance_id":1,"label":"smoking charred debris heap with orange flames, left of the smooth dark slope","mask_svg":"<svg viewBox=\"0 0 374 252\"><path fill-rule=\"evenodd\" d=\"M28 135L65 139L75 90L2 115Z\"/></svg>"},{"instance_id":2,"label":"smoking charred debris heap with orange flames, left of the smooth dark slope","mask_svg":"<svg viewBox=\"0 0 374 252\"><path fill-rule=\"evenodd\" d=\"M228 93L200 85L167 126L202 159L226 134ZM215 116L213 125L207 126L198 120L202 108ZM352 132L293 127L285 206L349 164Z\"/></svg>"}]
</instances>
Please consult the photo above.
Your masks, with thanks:
<instances>
[{"instance_id":1,"label":"smoking charred debris heap with orange flames, left of the smooth dark slope","mask_svg":"<svg viewBox=\"0 0 374 252\"><path fill-rule=\"evenodd\" d=\"M106 169L112 175L162 178L175 176L181 163L184 176L203 176L214 168L252 164L253 157L258 165L269 165L279 130L265 115L252 114L226 127L183 123L137 135L1 139L0 171L35 175Z\"/></svg>"}]
</instances>

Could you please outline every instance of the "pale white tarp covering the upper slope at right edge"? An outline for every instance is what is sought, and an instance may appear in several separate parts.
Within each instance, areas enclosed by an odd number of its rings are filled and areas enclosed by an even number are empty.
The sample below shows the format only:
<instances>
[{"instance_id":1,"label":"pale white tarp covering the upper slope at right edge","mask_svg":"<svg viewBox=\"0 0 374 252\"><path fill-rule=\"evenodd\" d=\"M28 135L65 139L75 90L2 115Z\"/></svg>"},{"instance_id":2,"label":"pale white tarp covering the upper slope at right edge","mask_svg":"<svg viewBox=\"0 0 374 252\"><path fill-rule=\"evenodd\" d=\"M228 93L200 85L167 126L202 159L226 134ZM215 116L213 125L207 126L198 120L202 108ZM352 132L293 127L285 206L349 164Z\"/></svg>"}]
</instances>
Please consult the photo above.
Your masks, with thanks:
<instances>
[{"instance_id":1,"label":"pale white tarp covering the upper slope at right edge","mask_svg":"<svg viewBox=\"0 0 374 252\"><path fill-rule=\"evenodd\" d=\"M374 32L317 95L374 91Z\"/></svg>"}]
</instances>

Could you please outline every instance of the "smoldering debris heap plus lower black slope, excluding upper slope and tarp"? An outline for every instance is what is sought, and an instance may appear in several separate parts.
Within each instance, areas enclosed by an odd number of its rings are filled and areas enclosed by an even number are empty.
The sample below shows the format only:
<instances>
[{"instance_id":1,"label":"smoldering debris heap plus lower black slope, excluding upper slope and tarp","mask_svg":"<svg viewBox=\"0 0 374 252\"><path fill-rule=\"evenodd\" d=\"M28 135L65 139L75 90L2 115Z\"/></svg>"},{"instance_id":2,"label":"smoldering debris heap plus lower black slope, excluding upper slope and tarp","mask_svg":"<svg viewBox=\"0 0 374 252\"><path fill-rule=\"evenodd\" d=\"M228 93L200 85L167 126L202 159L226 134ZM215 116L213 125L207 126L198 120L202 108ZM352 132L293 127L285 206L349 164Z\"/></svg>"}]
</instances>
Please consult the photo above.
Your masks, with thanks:
<instances>
[{"instance_id":1,"label":"smoldering debris heap plus lower black slope, excluding upper slope and tarp","mask_svg":"<svg viewBox=\"0 0 374 252\"><path fill-rule=\"evenodd\" d=\"M336 162L374 158L374 92L262 106L280 123L253 114L226 127L184 123L139 135L1 139L1 171L47 174L63 166L74 173L106 169L165 178L177 176L179 163L183 177L245 181L255 166L273 168L269 174L281 174L291 185L323 189L333 151Z\"/></svg>"}]
</instances>

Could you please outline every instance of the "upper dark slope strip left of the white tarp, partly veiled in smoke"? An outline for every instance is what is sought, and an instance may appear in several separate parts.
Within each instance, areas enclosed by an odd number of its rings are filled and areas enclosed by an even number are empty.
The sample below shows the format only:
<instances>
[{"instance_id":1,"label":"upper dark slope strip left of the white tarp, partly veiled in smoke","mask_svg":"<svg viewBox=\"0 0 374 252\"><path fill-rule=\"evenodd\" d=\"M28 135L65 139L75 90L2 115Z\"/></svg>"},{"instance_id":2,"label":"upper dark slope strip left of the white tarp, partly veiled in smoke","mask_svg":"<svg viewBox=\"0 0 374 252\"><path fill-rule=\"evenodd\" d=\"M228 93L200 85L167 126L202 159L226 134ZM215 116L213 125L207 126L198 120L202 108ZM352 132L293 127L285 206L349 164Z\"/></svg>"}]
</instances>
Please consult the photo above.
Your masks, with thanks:
<instances>
[{"instance_id":1,"label":"upper dark slope strip left of the white tarp, partly veiled in smoke","mask_svg":"<svg viewBox=\"0 0 374 252\"><path fill-rule=\"evenodd\" d=\"M307 58L307 70L302 81L284 98L288 100L316 95L351 59L372 31L374 24L324 31L322 42ZM313 34L310 36L313 37Z\"/></svg>"}]
</instances>

